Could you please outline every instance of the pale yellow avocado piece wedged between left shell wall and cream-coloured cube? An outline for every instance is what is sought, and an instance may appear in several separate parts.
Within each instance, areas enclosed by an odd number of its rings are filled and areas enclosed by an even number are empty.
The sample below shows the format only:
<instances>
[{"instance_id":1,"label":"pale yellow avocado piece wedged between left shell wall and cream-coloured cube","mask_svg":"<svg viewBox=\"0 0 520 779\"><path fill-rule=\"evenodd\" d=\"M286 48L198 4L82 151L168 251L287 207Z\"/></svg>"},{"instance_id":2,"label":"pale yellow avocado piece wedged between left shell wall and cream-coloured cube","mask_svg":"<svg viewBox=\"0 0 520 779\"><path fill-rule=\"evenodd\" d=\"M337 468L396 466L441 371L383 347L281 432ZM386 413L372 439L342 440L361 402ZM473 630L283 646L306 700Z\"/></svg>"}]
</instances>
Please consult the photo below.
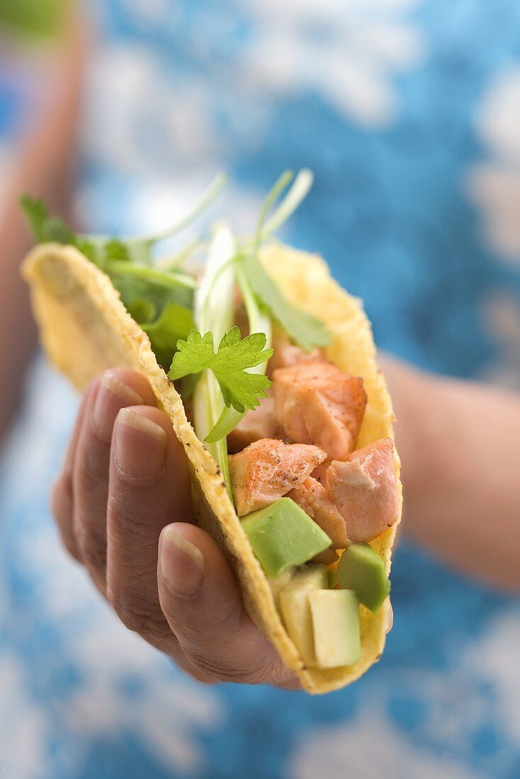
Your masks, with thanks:
<instances>
[{"instance_id":1,"label":"pale yellow avocado piece wedged between left shell wall and cream-coloured cube","mask_svg":"<svg viewBox=\"0 0 520 779\"><path fill-rule=\"evenodd\" d=\"M309 593L328 586L325 566L309 566L295 573L280 593L280 611L285 629L294 641L303 661L316 663L313 622L310 616Z\"/></svg>"}]
</instances>

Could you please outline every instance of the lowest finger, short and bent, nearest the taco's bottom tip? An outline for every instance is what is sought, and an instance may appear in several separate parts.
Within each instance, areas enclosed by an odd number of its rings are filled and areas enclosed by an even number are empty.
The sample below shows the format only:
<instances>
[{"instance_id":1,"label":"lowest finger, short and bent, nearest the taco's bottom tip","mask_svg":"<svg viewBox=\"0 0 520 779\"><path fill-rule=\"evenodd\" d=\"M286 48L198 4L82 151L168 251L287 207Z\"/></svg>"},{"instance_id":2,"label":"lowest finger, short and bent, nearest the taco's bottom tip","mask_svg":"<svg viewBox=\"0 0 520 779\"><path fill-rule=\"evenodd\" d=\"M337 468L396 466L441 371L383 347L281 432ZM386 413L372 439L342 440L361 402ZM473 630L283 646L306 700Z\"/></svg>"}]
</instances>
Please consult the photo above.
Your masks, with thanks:
<instances>
[{"instance_id":1,"label":"lowest finger, short and bent, nearest the taco's bottom tip","mask_svg":"<svg viewBox=\"0 0 520 779\"><path fill-rule=\"evenodd\" d=\"M225 555L199 527L168 525L157 571L161 607L186 657L221 681L276 684L292 679L242 608Z\"/></svg>"}]
</instances>

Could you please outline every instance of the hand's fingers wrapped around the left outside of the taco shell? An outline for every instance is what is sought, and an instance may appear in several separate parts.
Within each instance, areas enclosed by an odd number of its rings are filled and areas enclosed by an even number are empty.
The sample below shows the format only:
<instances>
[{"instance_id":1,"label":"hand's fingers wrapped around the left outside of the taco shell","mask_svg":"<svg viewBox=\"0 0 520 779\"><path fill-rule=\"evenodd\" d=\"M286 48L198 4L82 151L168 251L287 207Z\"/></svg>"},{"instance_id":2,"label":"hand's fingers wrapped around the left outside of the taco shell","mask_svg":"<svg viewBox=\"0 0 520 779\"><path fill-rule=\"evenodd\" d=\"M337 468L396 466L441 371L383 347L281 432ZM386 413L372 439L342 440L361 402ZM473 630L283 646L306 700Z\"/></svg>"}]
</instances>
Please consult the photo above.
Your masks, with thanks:
<instances>
[{"instance_id":1,"label":"hand's fingers wrapped around the left outside of the taco shell","mask_svg":"<svg viewBox=\"0 0 520 779\"><path fill-rule=\"evenodd\" d=\"M92 382L52 509L122 622L195 679L297 686L225 555L192 523L184 450L142 375L115 368Z\"/></svg>"}]
</instances>

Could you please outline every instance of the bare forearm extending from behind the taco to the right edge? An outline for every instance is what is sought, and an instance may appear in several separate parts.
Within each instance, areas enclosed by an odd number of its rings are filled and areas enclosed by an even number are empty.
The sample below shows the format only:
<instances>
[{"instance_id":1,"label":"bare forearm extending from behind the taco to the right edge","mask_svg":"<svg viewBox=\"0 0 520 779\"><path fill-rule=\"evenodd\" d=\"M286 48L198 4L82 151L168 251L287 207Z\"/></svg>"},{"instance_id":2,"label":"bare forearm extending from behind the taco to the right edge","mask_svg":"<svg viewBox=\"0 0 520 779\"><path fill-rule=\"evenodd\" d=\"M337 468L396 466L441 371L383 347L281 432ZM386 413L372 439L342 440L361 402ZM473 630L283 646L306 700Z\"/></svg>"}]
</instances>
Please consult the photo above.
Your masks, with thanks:
<instances>
[{"instance_id":1,"label":"bare forearm extending from behind the taco to the right edge","mask_svg":"<svg viewBox=\"0 0 520 779\"><path fill-rule=\"evenodd\" d=\"M405 534L449 565L520 588L520 397L385 358Z\"/></svg>"}]
</instances>

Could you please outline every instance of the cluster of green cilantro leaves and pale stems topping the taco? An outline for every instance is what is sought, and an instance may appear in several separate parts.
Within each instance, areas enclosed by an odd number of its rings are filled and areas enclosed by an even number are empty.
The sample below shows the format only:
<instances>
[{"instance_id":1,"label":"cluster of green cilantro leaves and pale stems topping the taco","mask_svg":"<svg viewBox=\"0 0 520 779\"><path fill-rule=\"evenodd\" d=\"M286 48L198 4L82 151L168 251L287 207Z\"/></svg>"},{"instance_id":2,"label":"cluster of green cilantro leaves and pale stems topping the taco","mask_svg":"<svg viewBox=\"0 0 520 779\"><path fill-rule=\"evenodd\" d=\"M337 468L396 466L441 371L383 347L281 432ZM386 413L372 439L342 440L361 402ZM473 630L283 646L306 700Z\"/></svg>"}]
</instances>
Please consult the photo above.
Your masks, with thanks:
<instances>
[{"instance_id":1,"label":"cluster of green cilantro leaves and pale stems topping the taco","mask_svg":"<svg viewBox=\"0 0 520 779\"><path fill-rule=\"evenodd\" d=\"M271 385L265 376L267 360L273 353L271 320L306 351L331 340L323 323L288 302L258 258L260 246L292 215L312 182L310 171L300 171L296 177L285 171L264 200L256 233L239 245L227 227L217 227L200 285L178 270L193 247L200 246L199 238L162 264L152 263L152 249L157 241L186 227L218 195L225 183L222 174L174 227L136 238L76 234L60 217L51 216L41 200L28 195L21 199L38 242L74 245L108 273L126 308L150 337L157 361L164 369L171 364L170 379L188 376L193 389L203 374L194 396L196 431L210 444L224 474L225 437L247 409L266 397ZM235 283L242 293L252 333L245 339L241 339L238 328L232 327ZM217 351L215 341L220 341Z\"/></svg>"}]
</instances>

